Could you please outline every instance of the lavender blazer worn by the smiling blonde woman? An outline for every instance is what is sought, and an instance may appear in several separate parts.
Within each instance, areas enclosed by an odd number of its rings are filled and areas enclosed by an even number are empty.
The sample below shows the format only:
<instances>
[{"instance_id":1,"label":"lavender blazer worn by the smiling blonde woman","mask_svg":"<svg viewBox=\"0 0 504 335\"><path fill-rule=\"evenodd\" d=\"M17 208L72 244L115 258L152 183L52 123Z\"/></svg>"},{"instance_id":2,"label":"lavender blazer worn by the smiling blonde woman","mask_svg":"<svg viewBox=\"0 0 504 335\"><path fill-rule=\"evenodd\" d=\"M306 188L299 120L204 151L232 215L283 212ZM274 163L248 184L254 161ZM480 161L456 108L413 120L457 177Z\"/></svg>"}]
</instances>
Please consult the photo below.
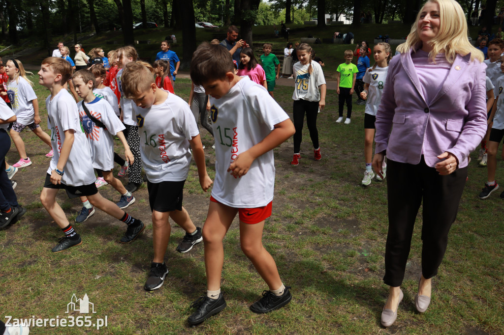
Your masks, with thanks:
<instances>
[{"instance_id":1,"label":"lavender blazer worn by the smiling blonde woman","mask_svg":"<svg viewBox=\"0 0 504 335\"><path fill-rule=\"evenodd\" d=\"M423 148L425 163L433 167L440 161L436 156L448 151L458 167L467 166L487 128L486 65L470 58L457 55L442 89L427 104L411 51L395 56L376 114L375 152L387 150L389 159L418 164Z\"/></svg>"}]
</instances>

